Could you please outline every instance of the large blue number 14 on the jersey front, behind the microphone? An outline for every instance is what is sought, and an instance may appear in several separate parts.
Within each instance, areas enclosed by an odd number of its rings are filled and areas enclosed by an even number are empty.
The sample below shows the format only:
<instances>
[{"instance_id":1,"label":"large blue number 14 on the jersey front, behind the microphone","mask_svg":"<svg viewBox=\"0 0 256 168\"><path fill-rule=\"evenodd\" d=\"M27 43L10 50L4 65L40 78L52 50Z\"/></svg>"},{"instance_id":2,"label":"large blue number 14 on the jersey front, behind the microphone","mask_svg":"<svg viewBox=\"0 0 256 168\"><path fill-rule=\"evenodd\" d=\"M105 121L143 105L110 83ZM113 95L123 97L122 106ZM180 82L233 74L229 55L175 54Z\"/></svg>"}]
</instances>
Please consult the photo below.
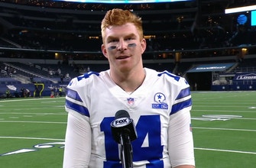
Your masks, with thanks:
<instances>
[{"instance_id":1,"label":"large blue number 14 on the jersey front, behind the microphone","mask_svg":"<svg viewBox=\"0 0 256 168\"><path fill-rule=\"evenodd\" d=\"M122 168L119 163L118 144L113 140L110 123L115 118L104 118L100 128L105 134L105 157L104 168ZM141 116L136 125L138 138L131 142L133 149L133 161L147 161L147 168L164 167L163 146L160 139L160 116L144 115Z\"/></svg>"}]
</instances>

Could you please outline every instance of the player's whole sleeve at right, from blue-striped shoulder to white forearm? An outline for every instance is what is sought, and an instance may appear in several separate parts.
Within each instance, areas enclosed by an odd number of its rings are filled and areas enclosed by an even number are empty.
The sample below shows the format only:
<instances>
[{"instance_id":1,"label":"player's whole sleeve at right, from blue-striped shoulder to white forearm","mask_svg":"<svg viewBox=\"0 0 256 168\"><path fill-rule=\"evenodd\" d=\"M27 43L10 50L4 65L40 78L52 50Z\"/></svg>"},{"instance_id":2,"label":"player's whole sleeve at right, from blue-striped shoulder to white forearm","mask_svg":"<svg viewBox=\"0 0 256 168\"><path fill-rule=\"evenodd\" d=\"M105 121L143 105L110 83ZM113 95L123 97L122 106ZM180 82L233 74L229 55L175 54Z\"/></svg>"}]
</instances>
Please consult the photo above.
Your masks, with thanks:
<instances>
[{"instance_id":1,"label":"player's whole sleeve at right, from blue-striped shoulder to white forearm","mask_svg":"<svg viewBox=\"0 0 256 168\"><path fill-rule=\"evenodd\" d=\"M172 167L195 165L190 116L192 100L186 79L180 78L177 90L168 128L168 152Z\"/></svg>"}]
</instances>

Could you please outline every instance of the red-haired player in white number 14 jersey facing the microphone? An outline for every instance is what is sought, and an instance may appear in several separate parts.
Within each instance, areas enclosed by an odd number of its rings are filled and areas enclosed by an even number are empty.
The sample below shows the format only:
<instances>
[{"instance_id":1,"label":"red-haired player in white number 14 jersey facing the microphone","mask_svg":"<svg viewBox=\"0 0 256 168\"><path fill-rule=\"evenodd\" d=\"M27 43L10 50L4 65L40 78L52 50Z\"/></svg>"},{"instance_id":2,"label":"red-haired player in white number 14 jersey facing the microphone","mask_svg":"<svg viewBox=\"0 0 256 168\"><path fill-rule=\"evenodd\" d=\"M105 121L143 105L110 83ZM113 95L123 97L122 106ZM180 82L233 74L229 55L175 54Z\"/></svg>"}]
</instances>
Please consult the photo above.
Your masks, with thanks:
<instances>
[{"instance_id":1,"label":"red-haired player in white number 14 jersey facing the microphone","mask_svg":"<svg viewBox=\"0 0 256 168\"><path fill-rule=\"evenodd\" d=\"M121 168L110 124L116 111L125 110L138 135L131 142L134 167L194 168L188 82L143 66L147 45L138 15L114 8L101 28L109 69L73 78L67 86L63 167Z\"/></svg>"}]
</instances>

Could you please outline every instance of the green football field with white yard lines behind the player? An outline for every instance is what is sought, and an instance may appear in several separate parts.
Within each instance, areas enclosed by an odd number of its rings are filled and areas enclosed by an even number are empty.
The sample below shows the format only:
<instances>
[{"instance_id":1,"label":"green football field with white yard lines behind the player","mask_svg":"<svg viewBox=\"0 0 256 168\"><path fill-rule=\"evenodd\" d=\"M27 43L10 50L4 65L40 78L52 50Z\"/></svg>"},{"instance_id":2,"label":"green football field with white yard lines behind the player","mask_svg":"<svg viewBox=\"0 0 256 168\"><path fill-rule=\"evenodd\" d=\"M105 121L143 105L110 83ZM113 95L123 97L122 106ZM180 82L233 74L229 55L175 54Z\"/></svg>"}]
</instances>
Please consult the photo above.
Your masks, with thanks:
<instances>
[{"instance_id":1,"label":"green football field with white yard lines behind the player","mask_svg":"<svg viewBox=\"0 0 256 168\"><path fill-rule=\"evenodd\" d=\"M256 167L256 92L192 92L197 168ZM64 98L0 100L0 167L60 168Z\"/></svg>"}]
</instances>

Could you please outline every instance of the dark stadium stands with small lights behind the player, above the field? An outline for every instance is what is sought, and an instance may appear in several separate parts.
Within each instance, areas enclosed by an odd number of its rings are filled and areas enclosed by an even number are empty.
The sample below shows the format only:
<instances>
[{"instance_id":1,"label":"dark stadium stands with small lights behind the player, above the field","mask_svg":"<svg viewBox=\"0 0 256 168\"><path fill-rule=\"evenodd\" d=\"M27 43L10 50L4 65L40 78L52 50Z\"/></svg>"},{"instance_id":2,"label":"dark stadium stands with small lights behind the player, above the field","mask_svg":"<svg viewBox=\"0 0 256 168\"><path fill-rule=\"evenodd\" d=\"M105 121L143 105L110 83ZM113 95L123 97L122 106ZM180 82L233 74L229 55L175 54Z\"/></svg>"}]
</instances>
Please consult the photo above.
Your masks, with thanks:
<instances>
[{"instance_id":1,"label":"dark stadium stands with small lights behind the player, above the field","mask_svg":"<svg viewBox=\"0 0 256 168\"><path fill-rule=\"evenodd\" d=\"M247 3L254 4L253 1ZM241 28L236 22L238 14L223 15L225 8L238 5L241 5L239 1L206 0L120 4L115 8L127 8L143 18L147 40L144 66L185 76L191 86L196 82L199 90L256 89L254 80L248 80L249 77L231 82L237 73L245 73L244 69L248 69L246 73L250 76L256 69L255 27L243 25L252 40L235 37ZM16 85L18 90L34 90L35 82L44 83L45 95L50 95L52 86L64 86L88 69L96 72L108 69L100 51L100 21L105 11L113 7L37 0L0 2L0 95L8 84ZM235 38L238 40L233 40ZM235 43L242 38L245 38L242 46ZM244 47L246 53L241 52ZM206 75L187 74L194 66L207 63L235 63L236 66ZM15 69L15 74L5 66ZM225 77L225 74L228 75ZM210 81L203 86L195 81L197 78ZM212 81L215 78L219 82ZM218 85L212 86L213 82Z\"/></svg>"}]
</instances>

